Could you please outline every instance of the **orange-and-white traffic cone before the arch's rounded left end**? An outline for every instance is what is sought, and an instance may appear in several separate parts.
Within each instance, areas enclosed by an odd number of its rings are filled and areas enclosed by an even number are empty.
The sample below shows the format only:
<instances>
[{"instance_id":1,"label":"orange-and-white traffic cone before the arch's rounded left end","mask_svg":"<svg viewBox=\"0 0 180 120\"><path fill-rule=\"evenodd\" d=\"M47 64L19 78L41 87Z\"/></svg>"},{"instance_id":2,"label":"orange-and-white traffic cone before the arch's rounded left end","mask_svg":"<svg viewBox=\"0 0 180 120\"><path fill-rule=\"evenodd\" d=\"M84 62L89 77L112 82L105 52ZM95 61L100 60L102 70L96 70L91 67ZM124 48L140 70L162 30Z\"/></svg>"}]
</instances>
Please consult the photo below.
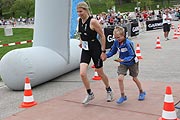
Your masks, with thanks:
<instances>
[{"instance_id":1,"label":"orange-and-white traffic cone before the arch's rounded left end","mask_svg":"<svg viewBox=\"0 0 180 120\"><path fill-rule=\"evenodd\" d=\"M31 84L28 77L25 79L25 86L24 86L24 98L23 102L19 107L21 108L28 108L36 105L37 102L34 101L32 90L31 90Z\"/></svg>"}]
</instances>

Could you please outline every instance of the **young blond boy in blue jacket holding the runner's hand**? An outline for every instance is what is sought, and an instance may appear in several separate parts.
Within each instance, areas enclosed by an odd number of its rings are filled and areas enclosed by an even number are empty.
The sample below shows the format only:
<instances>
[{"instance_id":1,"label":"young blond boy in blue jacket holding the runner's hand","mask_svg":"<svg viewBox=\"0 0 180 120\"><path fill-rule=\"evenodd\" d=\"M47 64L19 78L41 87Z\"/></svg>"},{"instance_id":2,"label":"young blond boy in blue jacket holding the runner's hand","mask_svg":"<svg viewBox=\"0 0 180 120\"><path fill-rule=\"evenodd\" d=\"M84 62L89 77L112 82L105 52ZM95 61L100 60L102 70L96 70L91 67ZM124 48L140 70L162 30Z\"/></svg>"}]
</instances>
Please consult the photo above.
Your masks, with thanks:
<instances>
[{"instance_id":1,"label":"young blond boy in blue jacket holding the runner's hand","mask_svg":"<svg viewBox=\"0 0 180 120\"><path fill-rule=\"evenodd\" d=\"M119 58L114 61L119 62L118 66L118 81L121 92L121 97L116 101L118 104L123 103L127 100L127 96L124 92L124 76L129 70L130 76L132 76L133 81L136 83L139 89L138 100L144 100L146 93L143 91L140 81L138 80L138 59L135 54L133 47L133 42L127 39L125 36L125 31L123 27L115 27L113 31L115 41L111 47L111 50L106 54L107 58L112 57L114 54L119 52Z\"/></svg>"}]
</instances>

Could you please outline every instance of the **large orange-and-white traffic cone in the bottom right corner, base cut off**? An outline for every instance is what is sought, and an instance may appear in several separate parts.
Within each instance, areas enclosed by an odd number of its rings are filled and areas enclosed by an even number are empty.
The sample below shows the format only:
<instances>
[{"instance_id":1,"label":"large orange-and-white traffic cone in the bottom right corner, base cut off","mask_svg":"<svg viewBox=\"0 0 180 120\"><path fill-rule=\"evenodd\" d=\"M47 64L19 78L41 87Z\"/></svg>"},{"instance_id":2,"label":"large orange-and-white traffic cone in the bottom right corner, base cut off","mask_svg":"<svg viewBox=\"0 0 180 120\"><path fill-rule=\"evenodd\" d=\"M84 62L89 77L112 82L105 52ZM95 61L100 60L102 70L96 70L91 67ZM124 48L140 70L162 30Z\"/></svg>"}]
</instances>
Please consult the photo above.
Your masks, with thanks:
<instances>
[{"instance_id":1,"label":"large orange-and-white traffic cone in the bottom right corner, base cut off","mask_svg":"<svg viewBox=\"0 0 180 120\"><path fill-rule=\"evenodd\" d=\"M159 120L179 120L177 118L176 111L174 108L174 100L170 86L166 87L162 117L160 117Z\"/></svg>"}]
</instances>

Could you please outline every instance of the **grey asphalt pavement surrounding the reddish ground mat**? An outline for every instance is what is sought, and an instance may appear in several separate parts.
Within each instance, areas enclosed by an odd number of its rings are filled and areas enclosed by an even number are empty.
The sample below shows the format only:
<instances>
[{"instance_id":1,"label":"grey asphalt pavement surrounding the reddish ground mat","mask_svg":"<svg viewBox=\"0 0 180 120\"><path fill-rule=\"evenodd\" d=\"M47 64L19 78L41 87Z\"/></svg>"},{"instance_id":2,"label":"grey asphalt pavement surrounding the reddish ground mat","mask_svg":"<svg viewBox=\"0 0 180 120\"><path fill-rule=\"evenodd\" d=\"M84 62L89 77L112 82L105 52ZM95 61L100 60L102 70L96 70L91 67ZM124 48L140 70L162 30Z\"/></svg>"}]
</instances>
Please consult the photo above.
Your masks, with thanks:
<instances>
[{"instance_id":1,"label":"grey asphalt pavement surrounding the reddish ground mat","mask_svg":"<svg viewBox=\"0 0 180 120\"><path fill-rule=\"evenodd\" d=\"M174 21L175 27L179 21ZM155 49L156 38L160 37L162 49ZM173 40L173 30L170 33L171 40L164 41L161 29L146 31L132 38L134 43L140 44L143 59L140 60L139 79L142 81L180 82L180 38ZM105 62L105 72L111 79L117 77L117 63L112 62L113 57ZM92 77L94 71L89 68L88 76ZM129 76L126 79L130 79ZM94 82L91 80L91 82ZM79 70L74 70L60 76L50 82L33 88L35 101L41 103L67 92L83 87L79 77ZM173 88L172 88L173 90ZM6 118L24 109L18 108L23 100L23 91L11 91L3 83L0 83L0 119ZM179 98L180 99L180 98ZM177 102L177 101L175 101ZM180 117L180 113L177 114Z\"/></svg>"}]
</instances>

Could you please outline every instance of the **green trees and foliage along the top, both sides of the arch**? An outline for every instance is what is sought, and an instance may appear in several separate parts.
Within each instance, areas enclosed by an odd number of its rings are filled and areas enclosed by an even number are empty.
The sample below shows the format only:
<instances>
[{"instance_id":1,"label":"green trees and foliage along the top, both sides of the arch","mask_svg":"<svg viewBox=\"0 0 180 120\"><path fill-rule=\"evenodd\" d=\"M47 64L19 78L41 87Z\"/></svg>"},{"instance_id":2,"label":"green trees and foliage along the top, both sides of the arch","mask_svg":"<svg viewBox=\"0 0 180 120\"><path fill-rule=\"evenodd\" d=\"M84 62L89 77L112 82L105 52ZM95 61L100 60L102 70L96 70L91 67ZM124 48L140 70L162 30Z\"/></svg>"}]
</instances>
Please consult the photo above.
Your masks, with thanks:
<instances>
[{"instance_id":1,"label":"green trees and foliage along the top, both sides of the arch","mask_svg":"<svg viewBox=\"0 0 180 120\"><path fill-rule=\"evenodd\" d=\"M95 8L104 7L109 9L112 6L122 7L124 4L132 3L147 9L158 3L161 7L170 5L172 1L178 3L179 0L85 0L90 5L97 5ZM179 3L180 4L180 3ZM102 6L103 5L103 6ZM0 18L2 17L33 17L35 0L0 0ZM93 9L93 7L92 7ZM127 9L128 10L128 9Z\"/></svg>"}]
</instances>

